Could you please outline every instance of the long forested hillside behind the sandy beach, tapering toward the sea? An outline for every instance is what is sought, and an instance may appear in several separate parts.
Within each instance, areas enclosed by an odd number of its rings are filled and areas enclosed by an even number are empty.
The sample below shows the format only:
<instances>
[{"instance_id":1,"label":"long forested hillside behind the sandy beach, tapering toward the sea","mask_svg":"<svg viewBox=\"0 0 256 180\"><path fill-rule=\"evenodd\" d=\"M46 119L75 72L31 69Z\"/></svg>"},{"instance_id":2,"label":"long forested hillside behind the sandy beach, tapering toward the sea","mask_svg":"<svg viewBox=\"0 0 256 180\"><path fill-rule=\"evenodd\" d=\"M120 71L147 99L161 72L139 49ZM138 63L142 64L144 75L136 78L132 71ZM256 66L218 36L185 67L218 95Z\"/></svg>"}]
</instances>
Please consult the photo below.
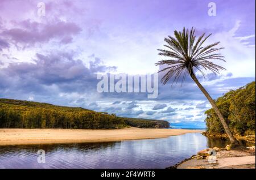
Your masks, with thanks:
<instances>
[{"instance_id":1,"label":"long forested hillside behind the sandy beach, tapering toward the sea","mask_svg":"<svg viewBox=\"0 0 256 180\"><path fill-rule=\"evenodd\" d=\"M117 117L84 108L0 98L0 128L123 128L164 127L166 121Z\"/></svg>"}]
</instances>

